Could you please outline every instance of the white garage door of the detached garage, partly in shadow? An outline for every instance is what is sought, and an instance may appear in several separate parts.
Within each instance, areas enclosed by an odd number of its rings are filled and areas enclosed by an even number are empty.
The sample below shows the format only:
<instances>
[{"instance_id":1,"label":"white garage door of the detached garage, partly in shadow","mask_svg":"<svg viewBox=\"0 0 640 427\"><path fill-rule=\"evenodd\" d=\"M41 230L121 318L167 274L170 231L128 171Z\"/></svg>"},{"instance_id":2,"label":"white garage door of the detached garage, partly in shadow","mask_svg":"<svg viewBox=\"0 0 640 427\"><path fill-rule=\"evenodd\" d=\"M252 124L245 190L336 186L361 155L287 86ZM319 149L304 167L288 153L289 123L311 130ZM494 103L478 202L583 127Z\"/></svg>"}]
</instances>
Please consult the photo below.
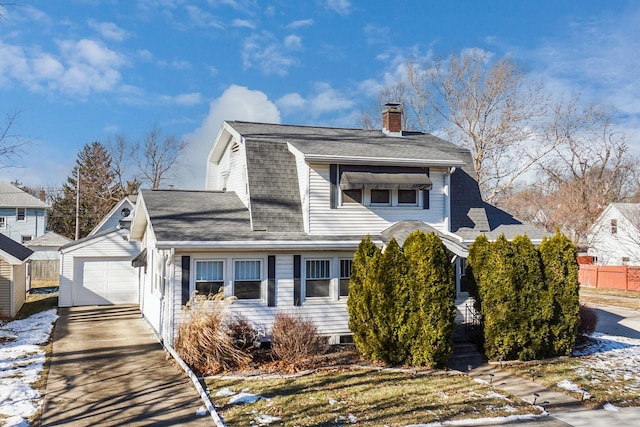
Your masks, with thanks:
<instances>
[{"instance_id":1,"label":"white garage door of the detached garage, partly in shadow","mask_svg":"<svg viewBox=\"0 0 640 427\"><path fill-rule=\"evenodd\" d=\"M136 270L131 260L75 260L73 305L137 303Z\"/></svg>"}]
</instances>

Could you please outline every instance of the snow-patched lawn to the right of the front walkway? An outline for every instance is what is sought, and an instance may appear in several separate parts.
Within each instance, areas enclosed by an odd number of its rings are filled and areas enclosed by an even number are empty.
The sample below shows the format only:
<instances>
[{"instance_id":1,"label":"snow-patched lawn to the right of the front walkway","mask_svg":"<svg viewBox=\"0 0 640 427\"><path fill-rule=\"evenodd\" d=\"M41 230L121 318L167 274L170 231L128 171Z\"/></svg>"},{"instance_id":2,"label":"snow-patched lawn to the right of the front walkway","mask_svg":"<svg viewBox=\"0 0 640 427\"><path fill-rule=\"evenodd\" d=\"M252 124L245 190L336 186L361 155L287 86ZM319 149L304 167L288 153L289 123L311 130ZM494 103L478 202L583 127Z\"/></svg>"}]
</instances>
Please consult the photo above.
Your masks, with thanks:
<instances>
[{"instance_id":1,"label":"snow-patched lawn to the right of the front walkway","mask_svg":"<svg viewBox=\"0 0 640 427\"><path fill-rule=\"evenodd\" d=\"M617 370L615 367L594 367L589 363L592 358L593 356L581 356L511 364L505 369L529 379L534 377L536 382L577 399L582 400L590 396L584 400L585 406L588 407L600 407L605 403L616 406L640 405L637 375ZM559 387L558 383L563 380L577 385L588 395Z\"/></svg>"}]
</instances>

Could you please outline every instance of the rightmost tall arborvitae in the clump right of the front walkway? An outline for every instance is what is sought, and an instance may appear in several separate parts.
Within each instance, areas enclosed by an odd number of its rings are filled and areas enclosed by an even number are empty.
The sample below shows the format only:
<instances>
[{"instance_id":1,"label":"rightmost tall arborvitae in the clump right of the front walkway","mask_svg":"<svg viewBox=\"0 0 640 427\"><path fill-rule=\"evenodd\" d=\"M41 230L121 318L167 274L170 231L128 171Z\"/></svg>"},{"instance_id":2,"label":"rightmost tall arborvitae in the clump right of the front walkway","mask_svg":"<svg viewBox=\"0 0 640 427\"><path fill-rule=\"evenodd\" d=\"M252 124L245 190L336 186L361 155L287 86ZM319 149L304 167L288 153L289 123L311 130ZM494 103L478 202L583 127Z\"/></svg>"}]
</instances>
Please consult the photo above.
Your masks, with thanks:
<instances>
[{"instance_id":1,"label":"rightmost tall arborvitae in the clump right of the front walkway","mask_svg":"<svg viewBox=\"0 0 640 427\"><path fill-rule=\"evenodd\" d=\"M542 241L539 251L551 300L550 350L554 355L568 355L573 351L580 325L576 247L558 231Z\"/></svg>"}]
</instances>

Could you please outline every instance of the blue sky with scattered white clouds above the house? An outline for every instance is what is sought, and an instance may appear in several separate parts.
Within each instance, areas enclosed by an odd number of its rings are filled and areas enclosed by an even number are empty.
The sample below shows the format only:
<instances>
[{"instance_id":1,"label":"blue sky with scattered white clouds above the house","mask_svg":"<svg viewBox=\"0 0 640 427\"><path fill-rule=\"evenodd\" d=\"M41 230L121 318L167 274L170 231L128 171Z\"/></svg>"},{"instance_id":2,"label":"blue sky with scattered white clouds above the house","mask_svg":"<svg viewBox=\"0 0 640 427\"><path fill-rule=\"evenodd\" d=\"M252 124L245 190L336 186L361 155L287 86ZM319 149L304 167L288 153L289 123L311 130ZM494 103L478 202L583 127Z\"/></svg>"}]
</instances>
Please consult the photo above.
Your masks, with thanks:
<instances>
[{"instance_id":1,"label":"blue sky with scattered white clouds above the house","mask_svg":"<svg viewBox=\"0 0 640 427\"><path fill-rule=\"evenodd\" d=\"M557 94L611 106L640 145L640 2L17 0L0 20L0 114L29 137L0 179L61 184L86 143L154 125L203 188L224 119L356 127L409 57L511 54Z\"/></svg>"}]
</instances>

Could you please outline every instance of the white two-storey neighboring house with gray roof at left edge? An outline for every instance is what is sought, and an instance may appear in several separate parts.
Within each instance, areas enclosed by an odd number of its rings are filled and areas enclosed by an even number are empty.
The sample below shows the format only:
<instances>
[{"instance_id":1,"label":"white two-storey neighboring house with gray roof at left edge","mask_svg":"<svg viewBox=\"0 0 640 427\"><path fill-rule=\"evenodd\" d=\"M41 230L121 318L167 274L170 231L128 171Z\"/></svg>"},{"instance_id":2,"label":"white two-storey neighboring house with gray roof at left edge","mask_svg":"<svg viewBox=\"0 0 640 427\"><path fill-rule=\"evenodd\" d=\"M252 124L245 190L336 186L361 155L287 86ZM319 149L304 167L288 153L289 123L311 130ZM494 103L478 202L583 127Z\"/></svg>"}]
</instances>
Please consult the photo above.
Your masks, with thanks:
<instances>
[{"instance_id":1,"label":"white two-storey neighboring house with gray roof at left edge","mask_svg":"<svg viewBox=\"0 0 640 427\"><path fill-rule=\"evenodd\" d=\"M47 205L8 182L0 182L0 233L26 243L47 231Z\"/></svg>"}]
</instances>

